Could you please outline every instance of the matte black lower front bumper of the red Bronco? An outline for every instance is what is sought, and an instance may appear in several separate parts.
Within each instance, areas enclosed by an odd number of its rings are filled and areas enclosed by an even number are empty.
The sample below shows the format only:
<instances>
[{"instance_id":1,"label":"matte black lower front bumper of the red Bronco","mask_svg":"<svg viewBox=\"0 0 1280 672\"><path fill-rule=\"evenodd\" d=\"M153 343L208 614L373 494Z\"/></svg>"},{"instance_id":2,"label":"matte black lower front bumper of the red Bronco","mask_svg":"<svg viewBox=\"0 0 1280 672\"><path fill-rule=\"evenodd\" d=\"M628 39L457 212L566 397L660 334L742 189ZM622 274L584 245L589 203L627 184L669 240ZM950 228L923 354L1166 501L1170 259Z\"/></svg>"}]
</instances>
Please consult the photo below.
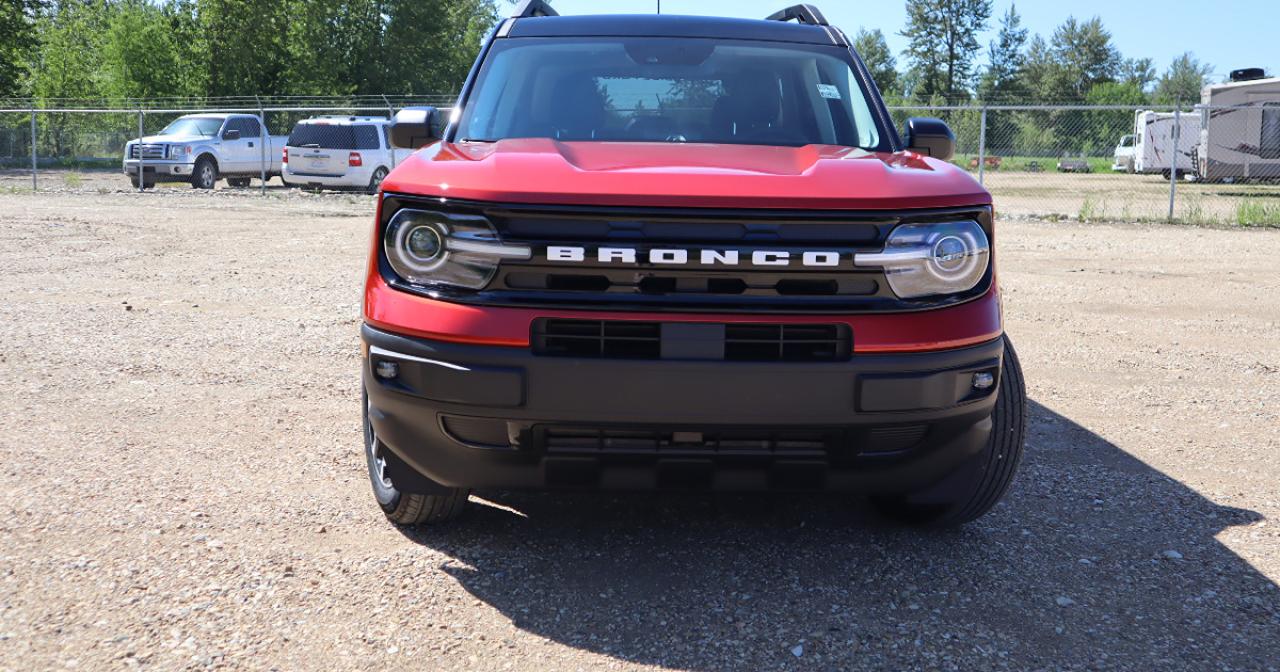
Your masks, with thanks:
<instances>
[{"instance_id":1,"label":"matte black lower front bumper of the red Bronco","mask_svg":"<svg viewBox=\"0 0 1280 672\"><path fill-rule=\"evenodd\" d=\"M986 445L1004 352L632 361L362 337L369 417L406 492L911 492ZM996 383L974 389L975 372Z\"/></svg>"}]
</instances>

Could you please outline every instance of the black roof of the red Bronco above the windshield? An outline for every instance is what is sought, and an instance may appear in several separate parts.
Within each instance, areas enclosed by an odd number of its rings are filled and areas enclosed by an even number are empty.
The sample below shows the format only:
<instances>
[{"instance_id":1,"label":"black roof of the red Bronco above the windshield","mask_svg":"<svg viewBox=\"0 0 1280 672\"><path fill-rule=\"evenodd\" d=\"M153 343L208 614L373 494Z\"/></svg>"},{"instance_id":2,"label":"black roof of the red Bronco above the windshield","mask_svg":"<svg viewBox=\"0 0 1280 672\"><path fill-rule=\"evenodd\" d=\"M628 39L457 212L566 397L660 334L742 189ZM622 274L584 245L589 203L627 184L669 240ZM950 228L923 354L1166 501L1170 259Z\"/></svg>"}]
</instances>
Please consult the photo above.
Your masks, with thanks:
<instances>
[{"instance_id":1,"label":"black roof of the red Bronco above the windshield","mask_svg":"<svg viewBox=\"0 0 1280 672\"><path fill-rule=\"evenodd\" d=\"M507 37L718 37L809 45L847 45L835 27L781 20L681 17L675 14L599 14L509 19Z\"/></svg>"}]
</instances>

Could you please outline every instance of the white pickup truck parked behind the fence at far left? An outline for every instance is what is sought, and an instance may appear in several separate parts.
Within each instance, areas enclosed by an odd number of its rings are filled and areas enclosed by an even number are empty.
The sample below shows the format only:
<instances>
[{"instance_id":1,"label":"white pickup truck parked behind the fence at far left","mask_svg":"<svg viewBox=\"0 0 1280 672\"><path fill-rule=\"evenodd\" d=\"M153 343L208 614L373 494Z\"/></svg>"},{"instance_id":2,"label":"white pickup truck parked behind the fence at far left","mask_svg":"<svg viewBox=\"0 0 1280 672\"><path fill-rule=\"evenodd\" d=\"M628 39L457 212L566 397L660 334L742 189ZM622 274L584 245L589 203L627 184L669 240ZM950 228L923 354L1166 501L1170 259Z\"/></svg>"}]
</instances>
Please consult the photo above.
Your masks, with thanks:
<instances>
[{"instance_id":1,"label":"white pickup truck parked behind the fence at far left","mask_svg":"<svg viewBox=\"0 0 1280 672\"><path fill-rule=\"evenodd\" d=\"M131 141L124 146L124 174L138 186L156 182L189 182L197 189L211 189L220 178L232 187L247 187L251 178L268 179L280 174L280 152L288 136L269 136L257 115L188 114L179 116L159 134Z\"/></svg>"}]
</instances>

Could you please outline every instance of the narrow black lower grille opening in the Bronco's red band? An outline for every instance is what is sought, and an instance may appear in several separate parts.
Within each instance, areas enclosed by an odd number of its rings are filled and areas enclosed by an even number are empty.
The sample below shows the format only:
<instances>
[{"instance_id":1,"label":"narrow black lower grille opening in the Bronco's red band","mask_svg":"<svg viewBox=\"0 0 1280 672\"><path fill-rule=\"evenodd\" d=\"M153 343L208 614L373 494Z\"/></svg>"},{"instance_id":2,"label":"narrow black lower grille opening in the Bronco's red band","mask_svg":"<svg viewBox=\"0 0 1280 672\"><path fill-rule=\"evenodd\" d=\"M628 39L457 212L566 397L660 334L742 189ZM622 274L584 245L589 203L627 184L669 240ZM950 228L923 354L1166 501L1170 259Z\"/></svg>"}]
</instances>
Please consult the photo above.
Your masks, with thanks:
<instances>
[{"instance_id":1,"label":"narrow black lower grille opening in the Bronco's red band","mask_svg":"<svg viewBox=\"0 0 1280 672\"><path fill-rule=\"evenodd\" d=\"M854 344L842 324L713 324L628 320L534 321L534 353L614 360L739 362L846 361Z\"/></svg>"}]
</instances>

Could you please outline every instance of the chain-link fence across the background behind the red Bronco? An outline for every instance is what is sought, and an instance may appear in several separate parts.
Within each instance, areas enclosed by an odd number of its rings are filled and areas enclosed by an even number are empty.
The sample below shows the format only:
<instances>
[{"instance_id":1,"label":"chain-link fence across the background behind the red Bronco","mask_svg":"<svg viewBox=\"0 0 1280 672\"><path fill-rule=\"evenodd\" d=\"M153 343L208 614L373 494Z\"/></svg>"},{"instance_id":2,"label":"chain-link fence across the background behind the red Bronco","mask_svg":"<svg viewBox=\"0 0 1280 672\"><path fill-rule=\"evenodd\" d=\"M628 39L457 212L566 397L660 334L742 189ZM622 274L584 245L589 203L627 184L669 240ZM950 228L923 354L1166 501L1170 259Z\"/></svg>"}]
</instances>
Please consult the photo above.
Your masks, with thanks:
<instances>
[{"instance_id":1,"label":"chain-link fence across the background behind the red Bronco","mask_svg":"<svg viewBox=\"0 0 1280 672\"><path fill-rule=\"evenodd\" d=\"M257 114L266 133L287 136L308 116L392 116L406 105L452 101L453 96L364 96L173 100L164 106L148 101L138 109L70 102L35 110L0 108L0 188L134 188L123 174L125 143L157 133L183 114ZM910 116L946 120L956 134L952 161L992 192L1005 216L1280 225L1280 101L1183 109L934 106L891 113L899 128ZM268 186L283 188L278 179L252 180L255 188Z\"/></svg>"}]
</instances>

